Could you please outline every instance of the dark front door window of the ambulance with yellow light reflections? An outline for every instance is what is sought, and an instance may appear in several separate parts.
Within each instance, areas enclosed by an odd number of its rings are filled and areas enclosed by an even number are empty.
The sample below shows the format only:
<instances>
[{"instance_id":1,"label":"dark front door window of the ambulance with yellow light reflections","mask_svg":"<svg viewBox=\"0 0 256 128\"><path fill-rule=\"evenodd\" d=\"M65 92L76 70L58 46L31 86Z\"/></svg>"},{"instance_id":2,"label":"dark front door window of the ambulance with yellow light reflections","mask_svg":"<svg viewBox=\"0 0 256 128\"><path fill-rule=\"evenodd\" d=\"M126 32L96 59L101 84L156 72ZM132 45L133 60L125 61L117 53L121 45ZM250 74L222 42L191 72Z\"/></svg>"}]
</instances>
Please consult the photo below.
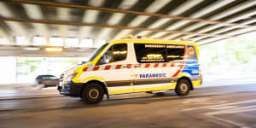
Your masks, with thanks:
<instances>
[{"instance_id":1,"label":"dark front door window of the ambulance with yellow light reflections","mask_svg":"<svg viewBox=\"0 0 256 128\"><path fill-rule=\"evenodd\" d=\"M108 64L114 61L124 61L127 55L127 44L114 44L107 52L102 55L102 58L96 65Z\"/></svg>"}]
</instances>

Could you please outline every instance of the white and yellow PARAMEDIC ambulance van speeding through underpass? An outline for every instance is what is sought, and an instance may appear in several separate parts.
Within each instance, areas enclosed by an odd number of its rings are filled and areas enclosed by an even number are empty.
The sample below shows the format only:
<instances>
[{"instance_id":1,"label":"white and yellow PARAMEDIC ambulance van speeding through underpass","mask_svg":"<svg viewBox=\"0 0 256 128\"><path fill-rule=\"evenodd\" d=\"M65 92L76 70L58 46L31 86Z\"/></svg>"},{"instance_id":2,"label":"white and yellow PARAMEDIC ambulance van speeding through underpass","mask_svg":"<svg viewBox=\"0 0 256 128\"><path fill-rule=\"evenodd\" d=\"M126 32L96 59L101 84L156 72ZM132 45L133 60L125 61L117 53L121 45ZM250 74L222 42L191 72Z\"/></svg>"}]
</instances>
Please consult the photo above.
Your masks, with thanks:
<instances>
[{"instance_id":1,"label":"white and yellow PARAMEDIC ambulance van speeding through underpass","mask_svg":"<svg viewBox=\"0 0 256 128\"><path fill-rule=\"evenodd\" d=\"M175 90L187 96L202 84L198 48L187 41L123 38L103 44L82 65L61 74L62 95L88 104L104 95Z\"/></svg>"}]
</instances>

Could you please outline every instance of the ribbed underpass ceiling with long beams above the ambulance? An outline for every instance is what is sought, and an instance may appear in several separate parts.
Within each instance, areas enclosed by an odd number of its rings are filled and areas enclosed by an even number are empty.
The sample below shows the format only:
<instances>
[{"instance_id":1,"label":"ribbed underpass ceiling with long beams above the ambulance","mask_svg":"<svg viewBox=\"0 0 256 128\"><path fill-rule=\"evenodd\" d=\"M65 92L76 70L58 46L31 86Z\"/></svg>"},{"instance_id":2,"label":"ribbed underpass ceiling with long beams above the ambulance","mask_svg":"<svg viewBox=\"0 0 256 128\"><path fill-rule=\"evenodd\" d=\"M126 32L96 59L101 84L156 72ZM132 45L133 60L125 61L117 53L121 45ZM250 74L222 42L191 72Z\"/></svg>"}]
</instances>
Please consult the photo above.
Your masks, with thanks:
<instances>
[{"instance_id":1,"label":"ribbed underpass ceiling with long beams above the ambulance","mask_svg":"<svg viewBox=\"0 0 256 128\"><path fill-rule=\"evenodd\" d=\"M256 30L255 0L0 0L0 7L0 37L17 47L19 36L26 45L46 38L46 46L52 37L91 38L97 47L125 34L201 45Z\"/></svg>"}]
</instances>

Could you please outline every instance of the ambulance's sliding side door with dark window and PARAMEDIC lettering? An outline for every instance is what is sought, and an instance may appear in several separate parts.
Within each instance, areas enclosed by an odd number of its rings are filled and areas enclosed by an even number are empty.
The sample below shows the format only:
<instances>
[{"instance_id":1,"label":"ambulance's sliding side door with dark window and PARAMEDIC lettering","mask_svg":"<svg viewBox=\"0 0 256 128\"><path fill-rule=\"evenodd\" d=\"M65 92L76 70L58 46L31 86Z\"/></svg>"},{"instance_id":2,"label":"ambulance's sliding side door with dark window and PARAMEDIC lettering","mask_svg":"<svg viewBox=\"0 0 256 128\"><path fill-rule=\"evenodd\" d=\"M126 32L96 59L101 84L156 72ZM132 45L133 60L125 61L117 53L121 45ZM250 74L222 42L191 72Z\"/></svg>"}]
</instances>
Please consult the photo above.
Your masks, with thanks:
<instances>
[{"instance_id":1,"label":"ambulance's sliding side door with dark window and PARAMEDIC lettering","mask_svg":"<svg viewBox=\"0 0 256 128\"><path fill-rule=\"evenodd\" d=\"M133 70L133 90L169 90L175 88L173 75L180 67L172 61L183 60L184 46L172 44L134 44L140 68Z\"/></svg>"}]
</instances>

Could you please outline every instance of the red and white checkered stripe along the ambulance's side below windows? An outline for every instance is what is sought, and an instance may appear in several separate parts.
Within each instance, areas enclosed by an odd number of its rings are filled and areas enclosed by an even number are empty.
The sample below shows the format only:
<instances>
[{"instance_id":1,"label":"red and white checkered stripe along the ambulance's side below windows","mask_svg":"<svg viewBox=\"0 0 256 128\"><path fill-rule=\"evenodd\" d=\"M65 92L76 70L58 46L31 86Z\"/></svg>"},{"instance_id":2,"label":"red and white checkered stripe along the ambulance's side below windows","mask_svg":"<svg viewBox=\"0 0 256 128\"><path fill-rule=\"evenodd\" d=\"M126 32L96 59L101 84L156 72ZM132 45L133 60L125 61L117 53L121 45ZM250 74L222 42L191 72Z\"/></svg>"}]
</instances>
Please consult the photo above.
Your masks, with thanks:
<instances>
[{"instance_id":1,"label":"red and white checkered stripe along the ambulance's side below windows","mask_svg":"<svg viewBox=\"0 0 256 128\"><path fill-rule=\"evenodd\" d=\"M143 63L143 64L122 64L122 65L106 65L96 67L84 67L84 72L98 71L98 70L114 70L114 69L128 69L128 68L148 68L148 67L180 67L182 70L184 67L182 63Z\"/></svg>"}]
</instances>

